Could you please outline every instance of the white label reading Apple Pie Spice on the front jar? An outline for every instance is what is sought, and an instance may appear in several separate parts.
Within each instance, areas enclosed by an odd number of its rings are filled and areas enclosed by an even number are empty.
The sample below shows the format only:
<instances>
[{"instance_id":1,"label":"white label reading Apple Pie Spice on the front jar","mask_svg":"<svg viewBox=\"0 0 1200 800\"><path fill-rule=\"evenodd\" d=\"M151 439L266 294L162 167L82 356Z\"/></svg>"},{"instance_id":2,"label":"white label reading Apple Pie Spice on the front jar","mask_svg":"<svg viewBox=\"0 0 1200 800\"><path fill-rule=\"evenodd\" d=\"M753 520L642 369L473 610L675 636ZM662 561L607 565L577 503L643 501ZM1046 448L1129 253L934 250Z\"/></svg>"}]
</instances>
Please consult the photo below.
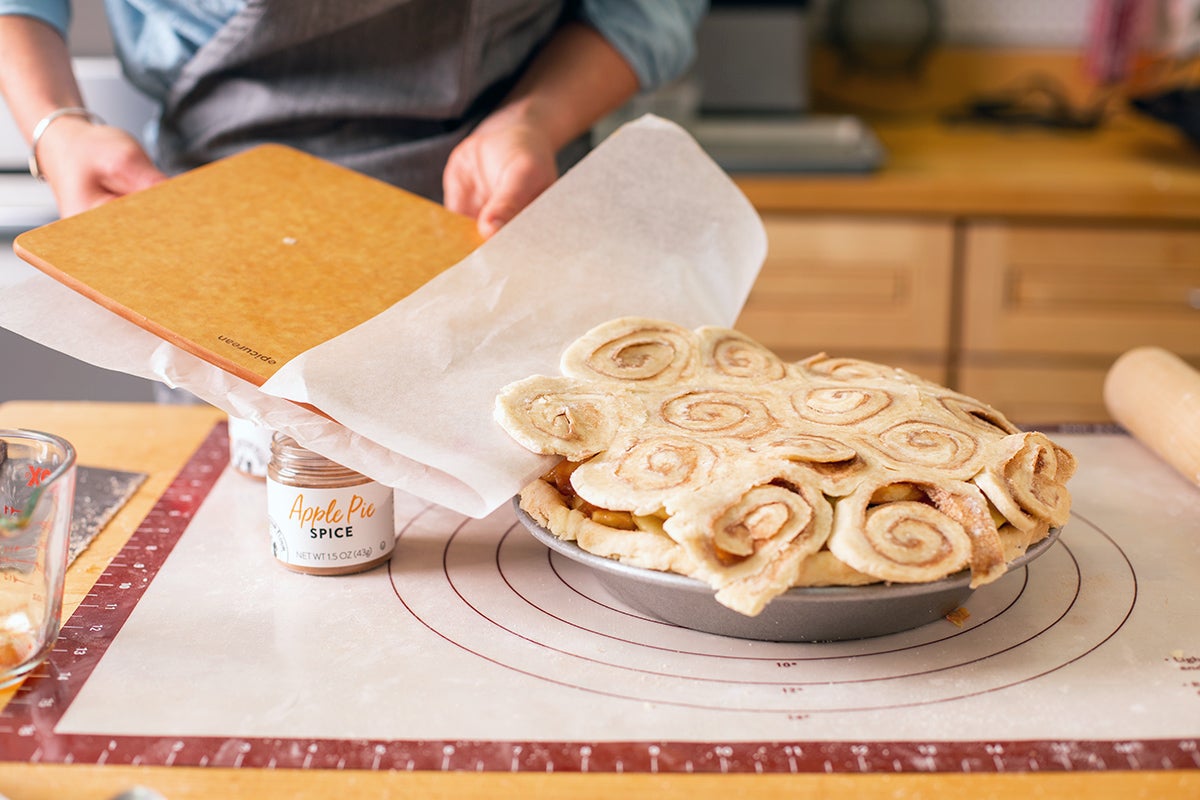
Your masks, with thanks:
<instances>
[{"instance_id":1,"label":"white label reading Apple Pie Spice on the front jar","mask_svg":"<svg viewBox=\"0 0 1200 800\"><path fill-rule=\"evenodd\" d=\"M392 489L374 481L330 489L268 479L266 518L275 558L293 566L367 564L396 546Z\"/></svg>"}]
</instances>

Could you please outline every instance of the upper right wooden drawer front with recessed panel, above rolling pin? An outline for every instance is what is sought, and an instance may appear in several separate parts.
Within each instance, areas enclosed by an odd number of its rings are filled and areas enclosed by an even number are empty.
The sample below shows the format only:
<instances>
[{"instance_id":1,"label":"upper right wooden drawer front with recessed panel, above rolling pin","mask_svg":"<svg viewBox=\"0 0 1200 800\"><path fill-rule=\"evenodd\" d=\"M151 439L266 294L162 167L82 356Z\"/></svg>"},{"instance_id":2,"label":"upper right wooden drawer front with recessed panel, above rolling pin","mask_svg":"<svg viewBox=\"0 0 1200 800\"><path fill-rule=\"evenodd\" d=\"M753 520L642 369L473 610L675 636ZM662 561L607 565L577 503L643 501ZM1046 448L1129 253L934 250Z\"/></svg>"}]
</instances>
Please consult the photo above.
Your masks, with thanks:
<instances>
[{"instance_id":1,"label":"upper right wooden drawer front with recessed panel, above rolling pin","mask_svg":"<svg viewBox=\"0 0 1200 800\"><path fill-rule=\"evenodd\" d=\"M1200 233L973 223L965 255L968 357L1200 355Z\"/></svg>"}]
</instances>

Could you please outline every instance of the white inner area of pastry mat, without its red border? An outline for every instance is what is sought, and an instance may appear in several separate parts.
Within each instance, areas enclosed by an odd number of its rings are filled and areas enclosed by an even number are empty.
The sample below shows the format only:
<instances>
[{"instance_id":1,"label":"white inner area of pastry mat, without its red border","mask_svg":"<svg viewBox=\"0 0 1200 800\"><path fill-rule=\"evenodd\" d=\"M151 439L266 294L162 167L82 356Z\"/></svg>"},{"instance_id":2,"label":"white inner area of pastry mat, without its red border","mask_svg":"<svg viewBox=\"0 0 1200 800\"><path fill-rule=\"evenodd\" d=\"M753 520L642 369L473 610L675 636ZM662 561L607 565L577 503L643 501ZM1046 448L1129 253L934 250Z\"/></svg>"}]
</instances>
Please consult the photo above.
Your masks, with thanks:
<instances>
[{"instance_id":1,"label":"white inner area of pastry mat, without its red border","mask_svg":"<svg viewBox=\"0 0 1200 800\"><path fill-rule=\"evenodd\" d=\"M221 477L56 732L427 741L1121 741L1200 735L1200 491L1123 435L1055 437L1074 516L949 621L749 642L630 610L509 509L401 503L390 571L276 565Z\"/></svg>"}]
</instances>

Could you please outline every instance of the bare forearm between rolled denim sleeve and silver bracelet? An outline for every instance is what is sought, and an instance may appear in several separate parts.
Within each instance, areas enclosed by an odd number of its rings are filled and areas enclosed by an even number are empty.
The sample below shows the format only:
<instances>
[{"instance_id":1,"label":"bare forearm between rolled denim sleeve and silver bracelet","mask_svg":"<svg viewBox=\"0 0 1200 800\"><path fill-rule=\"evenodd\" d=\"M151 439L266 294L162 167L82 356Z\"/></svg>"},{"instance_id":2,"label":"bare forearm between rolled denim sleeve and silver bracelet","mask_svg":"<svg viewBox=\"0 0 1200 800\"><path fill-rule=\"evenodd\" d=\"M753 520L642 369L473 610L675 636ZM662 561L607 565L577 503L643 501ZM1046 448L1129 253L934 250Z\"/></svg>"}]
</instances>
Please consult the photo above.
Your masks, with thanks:
<instances>
[{"instance_id":1,"label":"bare forearm between rolled denim sleeve and silver bracelet","mask_svg":"<svg viewBox=\"0 0 1200 800\"><path fill-rule=\"evenodd\" d=\"M0 94L26 140L54 109L83 106L67 44L54 28L31 17L0 16Z\"/></svg>"}]
</instances>

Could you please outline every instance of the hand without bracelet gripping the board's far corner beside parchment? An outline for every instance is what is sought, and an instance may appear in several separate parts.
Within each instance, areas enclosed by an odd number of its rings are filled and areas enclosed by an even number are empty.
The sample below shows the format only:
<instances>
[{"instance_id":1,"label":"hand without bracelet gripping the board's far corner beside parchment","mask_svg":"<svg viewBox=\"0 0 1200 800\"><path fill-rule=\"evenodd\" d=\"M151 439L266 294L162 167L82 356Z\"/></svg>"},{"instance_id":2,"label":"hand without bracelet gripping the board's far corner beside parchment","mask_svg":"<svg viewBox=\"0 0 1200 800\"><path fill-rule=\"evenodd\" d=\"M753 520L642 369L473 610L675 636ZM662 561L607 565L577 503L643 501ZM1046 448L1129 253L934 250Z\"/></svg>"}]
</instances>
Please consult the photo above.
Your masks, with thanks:
<instances>
[{"instance_id":1,"label":"hand without bracelet gripping the board's far corner beside parchment","mask_svg":"<svg viewBox=\"0 0 1200 800\"><path fill-rule=\"evenodd\" d=\"M558 179L554 155L535 126L485 120L450 154L445 205L475 217L479 233L491 236Z\"/></svg>"}]
</instances>

